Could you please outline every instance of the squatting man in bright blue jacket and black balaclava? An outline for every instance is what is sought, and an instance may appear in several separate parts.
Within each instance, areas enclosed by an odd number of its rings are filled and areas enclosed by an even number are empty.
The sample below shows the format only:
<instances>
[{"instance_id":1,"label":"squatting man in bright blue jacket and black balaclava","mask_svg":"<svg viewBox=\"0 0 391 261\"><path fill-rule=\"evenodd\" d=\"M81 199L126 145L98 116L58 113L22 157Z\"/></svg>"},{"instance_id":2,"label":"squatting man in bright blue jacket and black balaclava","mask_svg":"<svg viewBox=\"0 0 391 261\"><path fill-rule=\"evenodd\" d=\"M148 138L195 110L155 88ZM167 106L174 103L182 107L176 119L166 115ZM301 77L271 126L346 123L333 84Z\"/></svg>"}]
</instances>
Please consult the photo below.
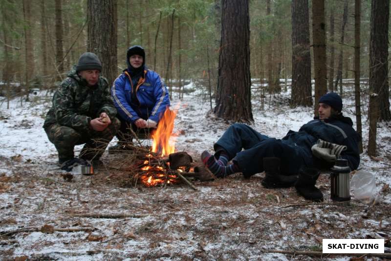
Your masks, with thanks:
<instances>
[{"instance_id":1,"label":"squatting man in bright blue jacket and black balaclava","mask_svg":"<svg viewBox=\"0 0 391 261\"><path fill-rule=\"evenodd\" d=\"M133 138L130 128L141 137L148 136L170 106L168 91L160 75L145 65L143 47L130 47L126 63L128 68L115 79L111 88L121 128L116 135L119 142L109 147L109 151L130 149L127 147Z\"/></svg>"}]
</instances>

